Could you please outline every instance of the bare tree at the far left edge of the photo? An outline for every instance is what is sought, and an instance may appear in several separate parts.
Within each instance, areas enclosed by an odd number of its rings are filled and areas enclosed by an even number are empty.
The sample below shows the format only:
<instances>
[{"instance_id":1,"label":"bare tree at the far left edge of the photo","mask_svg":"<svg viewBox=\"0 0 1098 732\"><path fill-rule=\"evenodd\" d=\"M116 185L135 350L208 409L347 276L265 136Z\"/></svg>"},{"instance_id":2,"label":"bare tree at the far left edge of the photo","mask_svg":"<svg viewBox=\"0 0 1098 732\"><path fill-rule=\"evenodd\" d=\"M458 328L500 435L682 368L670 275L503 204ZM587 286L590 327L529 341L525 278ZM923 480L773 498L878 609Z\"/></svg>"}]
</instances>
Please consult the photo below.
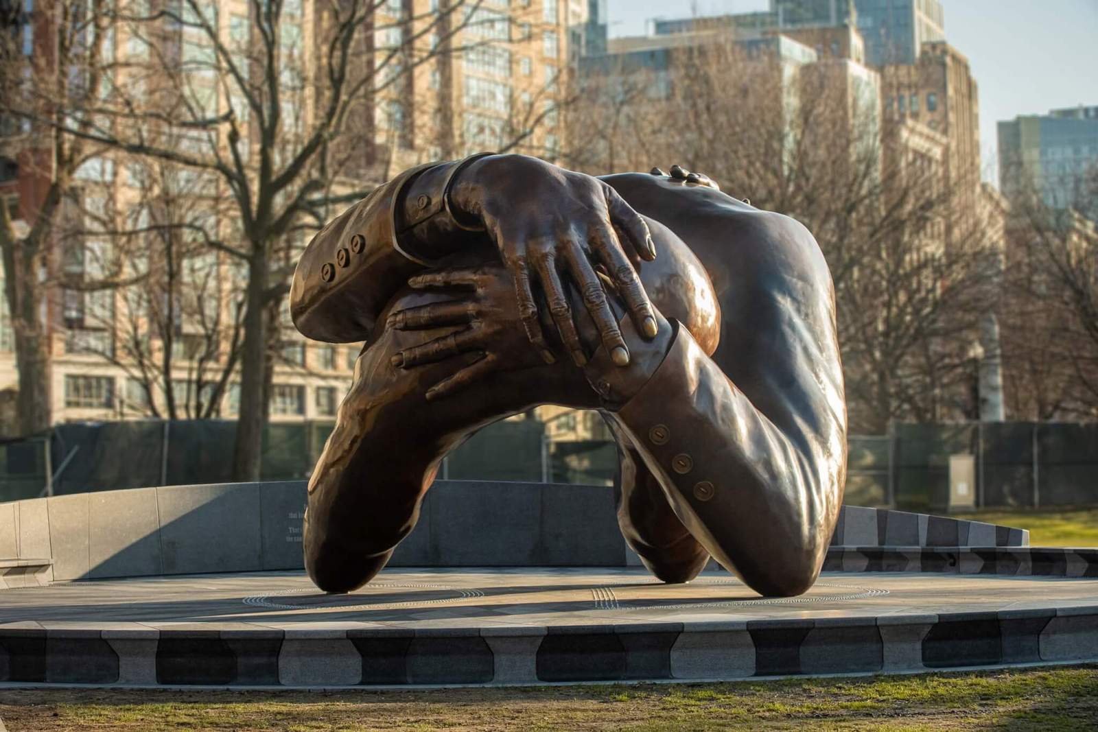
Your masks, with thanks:
<instances>
[{"instance_id":1,"label":"bare tree at the far left edge of the photo","mask_svg":"<svg viewBox=\"0 0 1098 732\"><path fill-rule=\"evenodd\" d=\"M51 424L51 340L64 292L102 291L128 277L116 249L98 249L94 277L59 256L67 249L82 261L89 225L114 227L116 210L97 191L108 171L96 168L98 146L89 139L97 125L89 106L102 94L111 38L105 8L101 0L58 0L32 13L5 8L9 29L26 26L0 40L0 151L16 162L21 189L18 211L0 205L0 254L24 435ZM24 38L45 41L24 49Z\"/></svg>"}]
</instances>

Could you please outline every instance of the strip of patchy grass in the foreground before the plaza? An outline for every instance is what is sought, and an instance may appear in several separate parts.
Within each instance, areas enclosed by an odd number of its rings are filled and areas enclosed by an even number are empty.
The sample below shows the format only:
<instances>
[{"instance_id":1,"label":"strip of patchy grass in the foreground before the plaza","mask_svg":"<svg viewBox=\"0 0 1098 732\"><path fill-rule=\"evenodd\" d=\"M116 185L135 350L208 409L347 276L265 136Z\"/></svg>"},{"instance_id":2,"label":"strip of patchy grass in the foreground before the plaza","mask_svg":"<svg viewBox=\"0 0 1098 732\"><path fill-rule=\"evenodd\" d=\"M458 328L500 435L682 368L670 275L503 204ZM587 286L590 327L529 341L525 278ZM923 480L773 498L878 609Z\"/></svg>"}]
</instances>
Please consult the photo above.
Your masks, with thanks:
<instances>
[{"instance_id":1,"label":"strip of patchy grass in the foreground before the plaza","mask_svg":"<svg viewBox=\"0 0 1098 732\"><path fill-rule=\"evenodd\" d=\"M20 730L1095 730L1098 666L789 679L444 689L0 689Z\"/></svg>"}]
</instances>

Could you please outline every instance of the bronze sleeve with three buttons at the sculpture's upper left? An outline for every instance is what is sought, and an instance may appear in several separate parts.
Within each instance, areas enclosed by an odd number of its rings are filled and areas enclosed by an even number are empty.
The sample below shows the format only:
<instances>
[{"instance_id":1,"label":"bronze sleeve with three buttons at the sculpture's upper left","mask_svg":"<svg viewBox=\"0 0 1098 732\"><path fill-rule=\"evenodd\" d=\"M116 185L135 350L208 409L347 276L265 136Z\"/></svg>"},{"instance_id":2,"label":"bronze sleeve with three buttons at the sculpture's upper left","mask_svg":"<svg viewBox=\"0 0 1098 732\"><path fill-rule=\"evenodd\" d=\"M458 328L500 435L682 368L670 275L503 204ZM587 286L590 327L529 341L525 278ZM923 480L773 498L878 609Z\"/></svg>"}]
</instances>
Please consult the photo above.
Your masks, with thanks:
<instances>
[{"instance_id":1,"label":"bronze sleeve with three buttons at the sculpture's upper left","mask_svg":"<svg viewBox=\"0 0 1098 732\"><path fill-rule=\"evenodd\" d=\"M483 237L446 206L446 184L461 162L405 170L313 237L290 288L290 315L302 335L335 344L369 339L408 277Z\"/></svg>"}]
</instances>

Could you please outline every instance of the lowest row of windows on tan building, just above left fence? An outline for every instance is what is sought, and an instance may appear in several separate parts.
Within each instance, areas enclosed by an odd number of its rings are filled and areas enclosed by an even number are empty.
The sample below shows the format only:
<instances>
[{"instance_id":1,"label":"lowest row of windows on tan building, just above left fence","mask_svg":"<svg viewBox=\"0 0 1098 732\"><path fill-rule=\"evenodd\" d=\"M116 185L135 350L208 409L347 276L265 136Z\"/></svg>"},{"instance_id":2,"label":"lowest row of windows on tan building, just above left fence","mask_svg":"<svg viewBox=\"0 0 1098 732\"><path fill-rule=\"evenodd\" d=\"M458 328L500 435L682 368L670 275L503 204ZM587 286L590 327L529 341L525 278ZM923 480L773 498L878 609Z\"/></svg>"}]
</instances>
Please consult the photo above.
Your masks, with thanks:
<instances>
[{"instance_id":1,"label":"lowest row of windows on tan building, just above left fence","mask_svg":"<svg viewBox=\"0 0 1098 732\"><path fill-rule=\"evenodd\" d=\"M148 392L136 379L126 380L125 395L116 404L116 379L114 376L91 376L86 374L65 375L65 406L76 409L143 410L148 406ZM171 382L171 395L177 405L194 404L194 383L186 380ZM215 385L202 384L202 402L213 396ZM339 393L335 386L314 386L314 414L332 417L339 405ZM272 384L270 414L280 416L304 416L307 387L303 384ZM240 385L229 384L226 412L235 415L240 408Z\"/></svg>"}]
</instances>

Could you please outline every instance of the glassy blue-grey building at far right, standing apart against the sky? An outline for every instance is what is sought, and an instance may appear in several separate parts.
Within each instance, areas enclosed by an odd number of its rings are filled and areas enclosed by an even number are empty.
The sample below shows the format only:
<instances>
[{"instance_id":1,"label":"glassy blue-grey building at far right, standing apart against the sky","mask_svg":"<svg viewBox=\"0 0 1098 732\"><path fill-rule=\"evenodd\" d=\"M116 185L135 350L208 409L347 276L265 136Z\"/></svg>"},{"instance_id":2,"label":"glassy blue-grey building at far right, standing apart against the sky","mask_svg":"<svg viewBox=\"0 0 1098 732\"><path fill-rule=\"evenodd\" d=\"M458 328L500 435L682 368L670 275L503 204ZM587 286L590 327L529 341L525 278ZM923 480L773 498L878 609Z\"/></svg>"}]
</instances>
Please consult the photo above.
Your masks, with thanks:
<instances>
[{"instance_id":1,"label":"glassy blue-grey building at far right, standing apart against the sky","mask_svg":"<svg viewBox=\"0 0 1098 732\"><path fill-rule=\"evenodd\" d=\"M1052 209L1074 207L1098 221L1098 202L1080 188L1098 174L1098 106L1052 110L999 122L999 188L1008 199L1030 191Z\"/></svg>"}]
</instances>

